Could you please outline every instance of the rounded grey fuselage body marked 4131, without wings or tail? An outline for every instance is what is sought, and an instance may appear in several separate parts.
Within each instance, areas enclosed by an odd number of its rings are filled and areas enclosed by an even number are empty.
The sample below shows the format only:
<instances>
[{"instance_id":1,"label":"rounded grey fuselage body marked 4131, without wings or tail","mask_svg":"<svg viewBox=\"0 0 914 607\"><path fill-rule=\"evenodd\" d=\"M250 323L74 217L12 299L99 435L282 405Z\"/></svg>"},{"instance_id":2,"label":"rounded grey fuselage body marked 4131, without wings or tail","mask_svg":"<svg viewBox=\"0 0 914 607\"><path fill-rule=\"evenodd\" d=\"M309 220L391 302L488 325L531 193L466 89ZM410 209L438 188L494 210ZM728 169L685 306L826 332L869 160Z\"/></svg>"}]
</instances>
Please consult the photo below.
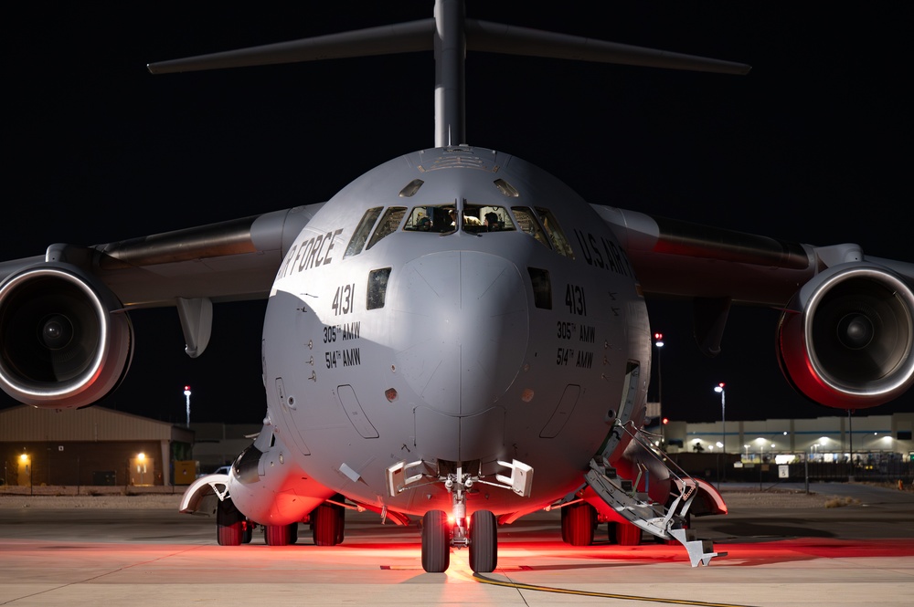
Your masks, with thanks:
<instances>
[{"instance_id":1,"label":"rounded grey fuselage body marked 4131, without wings or tail","mask_svg":"<svg viewBox=\"0 0 914 607\"><path fill-rule=\"evenodd\" d=\"M421 515L451 507L444 472L497 484L518 461L529 496L478 484L468 512L543 508L580 486L617 417L641 424L649 334L614 235L548 173L465 146L387 162L324 205L277 273L259 482L280 495L268 512L250 483L231 495L271 524L337 493ZM423 478L390 495L398 462Z\"/></svg>"}]
</instances>

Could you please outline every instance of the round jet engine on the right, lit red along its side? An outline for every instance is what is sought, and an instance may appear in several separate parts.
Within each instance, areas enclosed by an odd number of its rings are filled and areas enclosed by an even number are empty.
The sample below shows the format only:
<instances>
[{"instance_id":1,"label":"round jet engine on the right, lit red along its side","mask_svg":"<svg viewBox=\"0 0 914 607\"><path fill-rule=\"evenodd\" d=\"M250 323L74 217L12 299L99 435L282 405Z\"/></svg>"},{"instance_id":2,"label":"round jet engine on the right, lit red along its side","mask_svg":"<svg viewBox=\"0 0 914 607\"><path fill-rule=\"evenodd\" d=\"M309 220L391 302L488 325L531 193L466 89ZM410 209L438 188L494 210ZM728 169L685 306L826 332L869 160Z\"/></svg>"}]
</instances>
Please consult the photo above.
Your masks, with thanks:
<instances>
[{"instance_id":1,"label":"round jet engine on the right, lit red along its side","mask_svg":"<svg viewBox=\"0 0 914 607\"><path fill-rule=\"evenodd\" d=\"M817 403L859 409L914 383L914 293L874 264L830 267L781 314L781 371Z\"/></svg>"}]
</instances>

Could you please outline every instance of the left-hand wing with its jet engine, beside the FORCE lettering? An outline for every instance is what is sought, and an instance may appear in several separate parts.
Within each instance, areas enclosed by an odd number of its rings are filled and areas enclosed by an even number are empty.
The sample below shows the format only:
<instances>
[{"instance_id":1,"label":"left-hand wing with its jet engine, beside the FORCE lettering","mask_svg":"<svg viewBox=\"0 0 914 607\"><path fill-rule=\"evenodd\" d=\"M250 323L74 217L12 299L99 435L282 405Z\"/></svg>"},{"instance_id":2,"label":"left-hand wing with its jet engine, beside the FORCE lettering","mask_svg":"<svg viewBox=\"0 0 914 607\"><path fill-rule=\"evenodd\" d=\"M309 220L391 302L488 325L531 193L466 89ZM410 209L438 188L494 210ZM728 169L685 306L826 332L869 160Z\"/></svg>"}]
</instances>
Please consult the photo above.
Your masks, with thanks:
<instances>
[{"instance_id":1,"label":"left-hand wing with its jet engine, beside the FORCE lettering","mask_svg":"<svg viewBox=\"0 0 914 607\"><path fill-rule=\"evenodd\" d=\"M97 402L133 359L129 309L175 306L186 353L196 358L209 343L213 302L266 298L283 256L322 206L105 245L51 245L45 256L3 262L0 334L16 344L0 359L4 391L34 406Z\"/></svg>"}]
</instances>

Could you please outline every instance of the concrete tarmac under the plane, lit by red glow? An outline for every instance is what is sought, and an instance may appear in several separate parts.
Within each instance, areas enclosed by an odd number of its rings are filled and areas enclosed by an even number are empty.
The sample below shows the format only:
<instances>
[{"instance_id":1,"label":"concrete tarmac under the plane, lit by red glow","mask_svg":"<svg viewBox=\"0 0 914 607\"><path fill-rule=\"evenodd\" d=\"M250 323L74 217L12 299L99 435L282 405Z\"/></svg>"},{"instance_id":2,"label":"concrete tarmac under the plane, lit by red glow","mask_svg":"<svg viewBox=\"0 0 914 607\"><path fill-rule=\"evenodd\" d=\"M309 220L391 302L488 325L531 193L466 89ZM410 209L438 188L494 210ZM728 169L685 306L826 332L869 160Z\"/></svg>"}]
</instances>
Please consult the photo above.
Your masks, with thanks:
<instances>
[{"instance_id":1,"label":"concrete tarmac under the plane, lit by red glow","mask_svg":"<svg viewBox=\"0 0 914 607\"><path fill-rule=\"evenodd\" d=\"M170 509L0 503L0 605L914 603L914 494L811 488L848 505L696 518L699 537L728 553L699 568L681 546L646 536L617 546L602 526L593 546L571 547L557 513L522 518L498 529L498 568L484 581L473 577L466 549L452 550L446 573L426 573L419 527L380 525L375 514L347 513L345 542L335 547L312 545L307 525L294 546L268 547L257 533L249 545L220 547L213 519Z\"/></svg>"}]
</instances>

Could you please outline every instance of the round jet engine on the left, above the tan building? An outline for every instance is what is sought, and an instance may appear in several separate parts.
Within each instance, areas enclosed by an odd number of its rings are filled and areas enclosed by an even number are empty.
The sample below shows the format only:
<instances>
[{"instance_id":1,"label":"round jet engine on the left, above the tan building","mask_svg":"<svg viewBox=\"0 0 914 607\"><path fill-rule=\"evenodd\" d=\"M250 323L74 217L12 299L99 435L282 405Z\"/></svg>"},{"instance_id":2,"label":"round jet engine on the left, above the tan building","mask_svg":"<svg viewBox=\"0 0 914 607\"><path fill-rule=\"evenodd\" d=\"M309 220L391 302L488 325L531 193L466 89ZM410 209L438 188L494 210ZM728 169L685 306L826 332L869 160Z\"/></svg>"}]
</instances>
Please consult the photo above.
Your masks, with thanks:
<instances>
[{"instance_id":1,"label":"round jet engine on the left, above the tan building","mask_svg":"<svg viewBox=\"0 0 914 607\"><path fill-rule=\"evenodd\" d=\"M72 409L121 383L133 327L110 289L67 264L28 267L0 285L0 388L20 403Z\"/></svg>"}]
</instances>

